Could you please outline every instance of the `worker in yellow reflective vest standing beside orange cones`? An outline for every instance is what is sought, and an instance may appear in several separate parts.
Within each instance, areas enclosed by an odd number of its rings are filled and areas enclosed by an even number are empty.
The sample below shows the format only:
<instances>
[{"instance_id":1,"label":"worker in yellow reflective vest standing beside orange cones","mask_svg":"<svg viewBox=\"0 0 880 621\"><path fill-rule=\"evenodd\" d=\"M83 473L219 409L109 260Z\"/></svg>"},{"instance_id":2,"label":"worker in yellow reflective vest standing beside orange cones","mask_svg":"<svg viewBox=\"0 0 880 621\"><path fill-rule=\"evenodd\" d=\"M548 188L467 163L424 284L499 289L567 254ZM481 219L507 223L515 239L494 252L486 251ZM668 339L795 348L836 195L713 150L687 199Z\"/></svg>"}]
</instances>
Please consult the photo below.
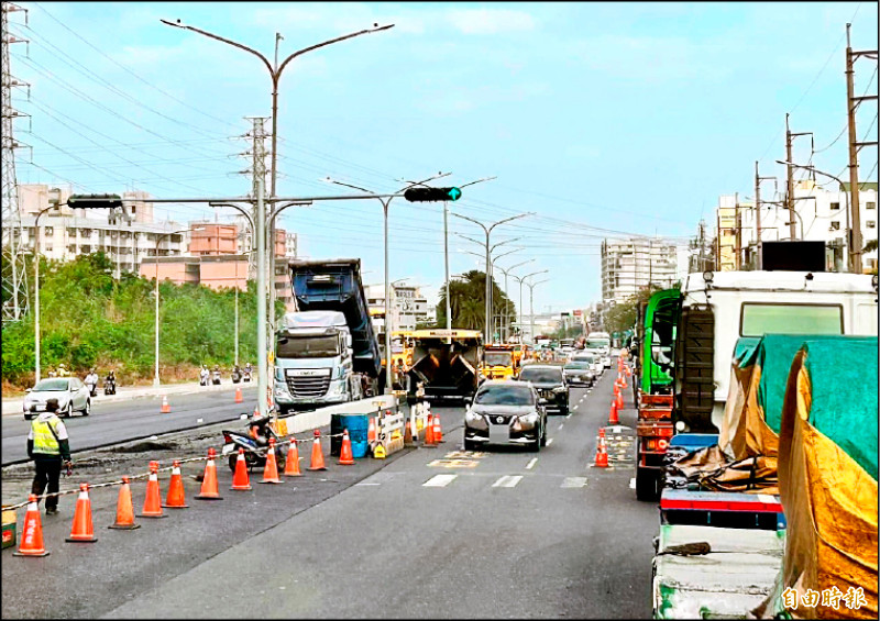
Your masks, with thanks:
<instances>
[{"instance_id":1,"label":"worker in yellow reflective vest standing beside orange cones","mask_svg":"<svg viewBox=\"0 0 880 621\"><path fill-rule=\"evenodd\" d=\"M70 472L70 446L67 441L67 428L58 418L58 400L55 398L46 401L46 411L42 412L31 423L31 431L28 434L28 457L34 461L34 483L31 486L31 494L37 497L43 495L43 490L48 494L58 491L58 483L62 478L62 465ZM40 500L37 500L37 503ZM50 496L46 498L46 515L58 512L58 497Z\"/></svg>"}]
</instances>

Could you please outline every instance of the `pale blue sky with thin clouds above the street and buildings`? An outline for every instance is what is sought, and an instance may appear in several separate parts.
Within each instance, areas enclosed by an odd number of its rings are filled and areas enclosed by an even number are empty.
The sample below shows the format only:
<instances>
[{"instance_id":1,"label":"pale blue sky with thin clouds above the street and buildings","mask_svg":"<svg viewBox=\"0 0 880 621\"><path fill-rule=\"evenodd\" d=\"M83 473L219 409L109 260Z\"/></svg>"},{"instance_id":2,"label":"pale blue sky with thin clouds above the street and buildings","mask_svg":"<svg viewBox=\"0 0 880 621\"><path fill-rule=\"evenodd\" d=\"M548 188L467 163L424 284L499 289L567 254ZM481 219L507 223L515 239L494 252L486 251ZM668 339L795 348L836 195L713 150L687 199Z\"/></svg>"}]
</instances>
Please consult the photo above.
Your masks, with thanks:
<instances>
[{"instance_id":1,"label":"pale blue sky with thin clouds above the street and buildings","mask_svg":"<svg viewBox=\"0 0 880 621\"><path fill-rule=\"evenodd\" d=\"M451 214L496 226L509 274L530 278L535 312L601 300L603 239L685 244L721 195L754 193L793 159L842 176L847 165L846 23L854 49L877 49L875 2L18 2L10 33L20 184L156 198L251 191L248 117L271 117L256 56L270 63L373 24L394 27L307 52L278 86L277 195L391 193L439 173L464 186ZM856 95L877 93L877 62L856 63ZM266 127L270 123L266 123ZM877 140L877 104L857 114ZM270 148L268 141L266 148ZM877 148L860 154L877 180ZM798 171L796 179L805 174ZM821 178L820 178L821 180ZM770 193L772 182L762 188ZM766 198L767 200L776 200ZM162 218L231 220L229 208L170 206ZM314 259L361 257L384 276L378 200L290 208L280 226ZM443 204L392 200L391 279L436 300L444 280ZM476 240L468 241L460 235ZM507 242L509 240L509 242ZM450 274L484 269L485 234L449 217ZM475 254L470 254L475 253ZM480 255L480 256L476 256ZM501 270L496 279L504 286ZM519 285L509 278L509 293ZM528 288L525 288L528 299Z\"/></svg>"}]
</instances>

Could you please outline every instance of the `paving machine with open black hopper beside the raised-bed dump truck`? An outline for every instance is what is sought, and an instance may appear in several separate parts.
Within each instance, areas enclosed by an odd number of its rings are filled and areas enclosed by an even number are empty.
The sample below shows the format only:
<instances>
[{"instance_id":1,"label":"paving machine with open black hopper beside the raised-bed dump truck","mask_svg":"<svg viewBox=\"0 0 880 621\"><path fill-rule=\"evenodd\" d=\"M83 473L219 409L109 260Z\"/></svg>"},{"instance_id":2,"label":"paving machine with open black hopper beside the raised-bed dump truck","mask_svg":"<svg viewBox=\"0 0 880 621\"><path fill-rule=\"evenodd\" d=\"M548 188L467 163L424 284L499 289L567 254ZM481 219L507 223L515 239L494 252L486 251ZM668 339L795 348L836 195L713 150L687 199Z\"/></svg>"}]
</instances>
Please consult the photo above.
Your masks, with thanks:
<instances>
[{"instance_id":1,"label":"paving machine with open black hopper beside the raised-bed dump truck","mask_svg":"<svg viewBox=\"0 0 880 621\"><path fill-rule=\"evenodd\" d=\"M416 330L408 400L419 388L428 401L472 399L480 382L483 340L479 330Z\"/></svg>"}]
</instances>

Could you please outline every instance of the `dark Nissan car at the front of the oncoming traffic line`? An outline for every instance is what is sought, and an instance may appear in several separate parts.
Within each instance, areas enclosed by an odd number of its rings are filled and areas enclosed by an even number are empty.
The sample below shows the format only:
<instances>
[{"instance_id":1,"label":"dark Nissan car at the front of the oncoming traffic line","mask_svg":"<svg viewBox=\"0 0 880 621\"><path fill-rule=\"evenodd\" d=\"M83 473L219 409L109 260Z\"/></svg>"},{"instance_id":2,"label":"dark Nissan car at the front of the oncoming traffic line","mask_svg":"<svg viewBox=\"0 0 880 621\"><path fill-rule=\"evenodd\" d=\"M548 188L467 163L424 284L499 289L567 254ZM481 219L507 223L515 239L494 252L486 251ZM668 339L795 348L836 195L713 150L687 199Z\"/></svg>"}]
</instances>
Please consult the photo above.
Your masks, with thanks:
<instances>
[{"instance_id":1,"label":"dark Nissan car at the front of the oncoming traffic line","mask_svg":"<svg viewBox=\"0 0 880 621\"><path fill-rule=\"evenodd\" d=\"M464 412L464 450L519 444L534 452L547 444L547 409L534 386L513 379L484 381Z\"/></svg>"}]
</instances>

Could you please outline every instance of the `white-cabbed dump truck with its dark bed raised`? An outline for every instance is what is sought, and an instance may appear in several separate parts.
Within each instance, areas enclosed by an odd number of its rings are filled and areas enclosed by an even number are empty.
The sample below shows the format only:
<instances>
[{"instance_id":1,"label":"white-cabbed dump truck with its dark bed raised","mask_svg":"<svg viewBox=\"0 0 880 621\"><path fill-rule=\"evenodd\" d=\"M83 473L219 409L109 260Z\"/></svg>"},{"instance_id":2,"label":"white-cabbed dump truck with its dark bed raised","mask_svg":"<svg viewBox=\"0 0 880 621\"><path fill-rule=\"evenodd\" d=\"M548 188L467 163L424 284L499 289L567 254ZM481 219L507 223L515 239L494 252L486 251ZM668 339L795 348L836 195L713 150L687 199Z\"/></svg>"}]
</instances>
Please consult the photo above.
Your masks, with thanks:
<instances>
[{"instance_id":1,"label":"white-cabbed dump truck with its dark bed raised","mask_svg":"<svg viewBox=\"0 0 880 621\"><path fill-rule=\"evenodd\" d=\"M298 312L275 334L274 399L282 413L377 392L378 343L361 284L361 259L290 260Z\"/></svg>"}]
</instances>

